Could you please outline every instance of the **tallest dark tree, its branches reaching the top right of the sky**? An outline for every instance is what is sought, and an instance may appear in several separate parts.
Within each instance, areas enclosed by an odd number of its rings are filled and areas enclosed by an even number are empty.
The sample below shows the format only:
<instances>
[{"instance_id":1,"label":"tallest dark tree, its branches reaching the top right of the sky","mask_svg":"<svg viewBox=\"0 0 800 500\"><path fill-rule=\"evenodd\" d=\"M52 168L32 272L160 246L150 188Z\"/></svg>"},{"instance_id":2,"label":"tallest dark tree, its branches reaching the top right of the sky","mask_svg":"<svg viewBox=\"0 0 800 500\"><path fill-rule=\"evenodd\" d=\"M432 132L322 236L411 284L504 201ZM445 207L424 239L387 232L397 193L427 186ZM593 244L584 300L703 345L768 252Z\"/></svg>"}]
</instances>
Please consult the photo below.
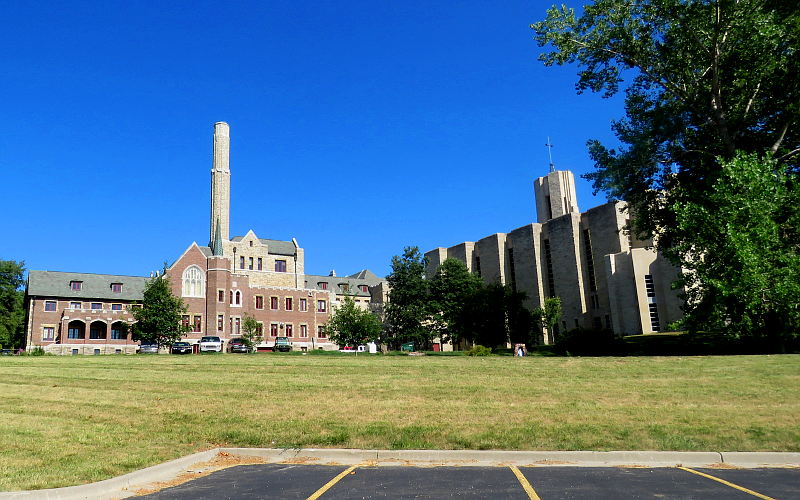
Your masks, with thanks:
<instances>
[{"instance_id":1,"label":"tallest dark tree, its branches reaching the top right of the sky","mask_svg":"<svg viewBox=\"0 0 800 500\"><path fill-rule=\"evenodd\" d=\"M708 195L728 175L723 165L737 151L772 157L789 177L787 186L797 189L797 2L595 0L580 16L553 7L531 27L539 45L548 45L540 56L546 65L579 66L579 92L610 96L623 77L632 77L625 89L626 115L613 123L621 146L589 141L596 170L586 177L595 190L627 201L633 229L642 238L654 236L678 266L698 257L688 250L695 238L702 244L713 237L679 223L679 207L691 205L718 217L721 200ZM787 235L784 251L798 243L796 234ZM716 279L738 279L740 268L718 265ZM722 300L714 289L698 289L708 293L702 297L706 305Z\"/></svg>"}]
</instances>

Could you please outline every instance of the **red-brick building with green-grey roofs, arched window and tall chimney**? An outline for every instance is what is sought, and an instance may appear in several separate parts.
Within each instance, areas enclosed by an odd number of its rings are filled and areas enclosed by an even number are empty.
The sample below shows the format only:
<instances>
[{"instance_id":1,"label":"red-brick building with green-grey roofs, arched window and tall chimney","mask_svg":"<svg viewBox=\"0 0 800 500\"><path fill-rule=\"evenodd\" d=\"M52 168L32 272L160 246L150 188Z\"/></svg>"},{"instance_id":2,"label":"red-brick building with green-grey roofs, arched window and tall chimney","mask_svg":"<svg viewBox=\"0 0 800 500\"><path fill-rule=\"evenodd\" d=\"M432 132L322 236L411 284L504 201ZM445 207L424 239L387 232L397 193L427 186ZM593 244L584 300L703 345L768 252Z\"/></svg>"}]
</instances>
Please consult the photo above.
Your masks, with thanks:
<instances>
[{"instance_id":1,"label":"red-brick building with green-grey roofs, arched window and tall chimney","mask_svg":"<svg viewBox=\"0 0 800 500\"><path fill-rule=\"evenodd\" d=\"M214 125L209 244L192 243L167 269L172 292L183 299L184 324L197 343L204 335L240 336L250 315L269 348L289 337L296 349L336 349L324 325L346 294L369 306L370 288L383 280L368 270L337 277L306 275L305 254L291 241L262 239L250 230L230 238L230 128ZM58 354L135 352L124 333L130 309L142 300L145 277L31 271L26 293L27 348Z\"/></svg>"}]
</instances>

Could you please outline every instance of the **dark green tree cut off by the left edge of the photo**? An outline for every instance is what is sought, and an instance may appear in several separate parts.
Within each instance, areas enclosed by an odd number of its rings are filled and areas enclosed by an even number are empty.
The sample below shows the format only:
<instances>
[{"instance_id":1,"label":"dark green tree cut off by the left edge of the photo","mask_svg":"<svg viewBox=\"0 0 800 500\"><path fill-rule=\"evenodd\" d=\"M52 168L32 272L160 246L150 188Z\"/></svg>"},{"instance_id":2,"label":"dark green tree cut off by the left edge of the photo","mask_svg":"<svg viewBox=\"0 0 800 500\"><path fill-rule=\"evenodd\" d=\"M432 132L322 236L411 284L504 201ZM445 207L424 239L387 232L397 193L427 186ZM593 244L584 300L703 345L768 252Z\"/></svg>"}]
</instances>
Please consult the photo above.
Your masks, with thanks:
<instances>
[{"instance_id":1,"label":"dark green tree cut off by the left edge of the photo","mask_svg":"<svg viewBox=\"0 0 800 500\"><path fill-rule=\"evenodd\" d=\"M24 347L25 263L0 260L0 346Z\"/></svg>"}]
</instances>

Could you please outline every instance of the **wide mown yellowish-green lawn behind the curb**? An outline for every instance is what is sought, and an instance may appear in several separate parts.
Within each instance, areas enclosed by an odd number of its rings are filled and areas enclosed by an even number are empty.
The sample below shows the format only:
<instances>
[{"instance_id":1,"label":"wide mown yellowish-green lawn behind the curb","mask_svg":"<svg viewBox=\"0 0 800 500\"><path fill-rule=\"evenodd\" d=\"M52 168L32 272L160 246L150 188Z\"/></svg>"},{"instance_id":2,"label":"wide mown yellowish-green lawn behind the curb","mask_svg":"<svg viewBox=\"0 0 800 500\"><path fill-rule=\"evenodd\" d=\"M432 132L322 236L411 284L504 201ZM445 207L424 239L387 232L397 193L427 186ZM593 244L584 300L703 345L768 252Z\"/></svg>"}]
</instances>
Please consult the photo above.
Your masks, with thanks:
<instances>
[{"instance_id":1,"label":"wide mown yellowish-green lawn behind the curb","mask_svg":"<svg viewBox=\"0 0 800 500\"><path fill-rule=\"evenodd\" d=\"M215 446L800 451L800 355L0 358L0 490Z\"/></svg>"}]
</instances>

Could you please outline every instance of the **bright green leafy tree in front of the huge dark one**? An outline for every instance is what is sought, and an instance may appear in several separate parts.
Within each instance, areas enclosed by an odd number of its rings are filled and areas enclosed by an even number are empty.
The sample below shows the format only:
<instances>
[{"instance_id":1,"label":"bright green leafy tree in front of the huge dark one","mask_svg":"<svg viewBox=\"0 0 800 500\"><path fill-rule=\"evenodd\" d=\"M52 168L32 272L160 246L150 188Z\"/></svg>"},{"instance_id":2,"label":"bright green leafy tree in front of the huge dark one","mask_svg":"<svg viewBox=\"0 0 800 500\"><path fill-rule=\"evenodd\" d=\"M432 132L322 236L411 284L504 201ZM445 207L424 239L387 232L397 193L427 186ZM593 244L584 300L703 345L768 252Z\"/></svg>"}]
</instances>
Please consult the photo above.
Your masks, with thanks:
<instances>
[{"instance_id":1,"label":"bright green leafy tree in front of the huge dark one","mask_svg":"<svg viewBox=\"0 0 800 500\"><path fill-rule=\"evenodd\" d=\"M675 241L684 256L685 321L692 330L710 326L781 345L800 332L797 179L755 154L721 165L707 200L674 207L680 234L693 235Z\"/></svg>"}]
</instances>

